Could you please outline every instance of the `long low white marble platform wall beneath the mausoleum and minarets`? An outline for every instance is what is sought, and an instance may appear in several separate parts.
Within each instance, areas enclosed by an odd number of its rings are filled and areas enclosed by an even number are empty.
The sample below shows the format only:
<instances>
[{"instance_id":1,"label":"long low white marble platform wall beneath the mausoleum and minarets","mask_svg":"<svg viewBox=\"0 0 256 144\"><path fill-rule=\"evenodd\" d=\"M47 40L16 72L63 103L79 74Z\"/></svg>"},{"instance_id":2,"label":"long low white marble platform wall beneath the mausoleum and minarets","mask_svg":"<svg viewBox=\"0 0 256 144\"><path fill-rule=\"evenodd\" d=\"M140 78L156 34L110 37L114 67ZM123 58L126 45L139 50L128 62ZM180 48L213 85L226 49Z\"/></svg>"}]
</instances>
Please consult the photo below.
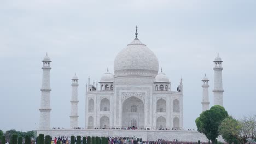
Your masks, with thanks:
<instances>
[{"instance_id":1,"label":"long low white marble platform wall beneath the mausoleum and minarets","mask_svg":"<svg viewBox=\"0 0 256 144\"><path fill-rule=\"evenodd\" d=\"M197 131L184 131L184 130L38 130L37 135L44 134L55 136L112 136L112 137L138 137L143 141L150 140L155 141L158 139L164 139L173 141L194 141L208 142L205 135ZM218 138L219 141L223 141L222 137Z\"/></svg>"}]
</instances>

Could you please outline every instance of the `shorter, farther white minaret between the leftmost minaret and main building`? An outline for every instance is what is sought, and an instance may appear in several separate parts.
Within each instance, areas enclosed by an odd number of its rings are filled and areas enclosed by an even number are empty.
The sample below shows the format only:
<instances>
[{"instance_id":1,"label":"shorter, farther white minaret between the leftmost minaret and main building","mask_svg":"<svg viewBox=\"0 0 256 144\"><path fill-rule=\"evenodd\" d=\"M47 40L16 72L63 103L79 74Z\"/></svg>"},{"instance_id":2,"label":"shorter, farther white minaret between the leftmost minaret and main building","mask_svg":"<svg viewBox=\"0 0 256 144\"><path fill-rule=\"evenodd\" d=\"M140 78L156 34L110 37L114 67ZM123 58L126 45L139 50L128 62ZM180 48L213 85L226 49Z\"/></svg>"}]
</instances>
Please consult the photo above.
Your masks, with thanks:
<instances>
[{"instance_id":1,"label":"shorter, farther white minaret between the leftmost minaret and main building","mask_svg":"<svg viewBox=\"0 0 256 144\"><path fill-rule=\"evenodd\" d=\"M70 112L70 127L78 127L78 77L76 75L72 78L72 95L71 95L71 112Z\"/></svg>"}]
</instances>

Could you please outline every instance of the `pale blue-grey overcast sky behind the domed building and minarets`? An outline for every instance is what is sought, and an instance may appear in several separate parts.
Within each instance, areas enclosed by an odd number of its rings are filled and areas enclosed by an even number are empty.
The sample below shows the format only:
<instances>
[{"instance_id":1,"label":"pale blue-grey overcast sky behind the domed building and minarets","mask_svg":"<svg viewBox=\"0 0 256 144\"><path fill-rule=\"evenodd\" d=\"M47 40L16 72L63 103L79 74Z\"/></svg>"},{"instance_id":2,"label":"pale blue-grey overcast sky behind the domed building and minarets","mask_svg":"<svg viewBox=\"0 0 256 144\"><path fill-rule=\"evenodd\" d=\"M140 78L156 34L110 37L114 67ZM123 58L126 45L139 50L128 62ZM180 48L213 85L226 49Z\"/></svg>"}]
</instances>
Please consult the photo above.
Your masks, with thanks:
<instances>
[{"instance_id":1,"label":"pale blue-grey overcast sky behind the domed building and minarets","mask_svg":"<svg viewBox=\"0 0 256 144\"><path fill-rule=\"evenodd\" d=\"M224 107L256 113L256 1L0 1L0 129L38 128L42 59L51 64L51 127L69 127L71 78L79 78L79 126L88 76L99 81L135 38L158 57L175 91L183 77L183 126L196 128L202 78L223 63Z\"/></svg>"}]
</instances>

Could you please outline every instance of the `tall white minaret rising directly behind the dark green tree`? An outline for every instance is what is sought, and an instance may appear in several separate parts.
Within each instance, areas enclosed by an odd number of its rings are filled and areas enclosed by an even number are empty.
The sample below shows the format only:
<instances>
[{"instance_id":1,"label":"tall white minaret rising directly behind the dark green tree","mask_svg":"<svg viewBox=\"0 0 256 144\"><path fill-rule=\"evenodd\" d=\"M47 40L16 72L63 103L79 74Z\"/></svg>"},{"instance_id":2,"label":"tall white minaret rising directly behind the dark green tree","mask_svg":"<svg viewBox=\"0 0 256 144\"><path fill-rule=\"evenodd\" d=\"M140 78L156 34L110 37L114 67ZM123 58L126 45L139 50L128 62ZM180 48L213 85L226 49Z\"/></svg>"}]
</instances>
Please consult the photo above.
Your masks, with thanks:
<instances>
[{"instance_id":1,"label":"tall white minaret rising directly behind the dark green tree","mask_svg":"<svg viewBox=\"0 0 256 144\"><path fill-rule=\"evenodd\" d=\"M214 69L214 89L213 89L213 95L214 95L214 105L220 105L223 106L223 92L224 89L222 88L222 58L218 56L214 59L215 67Z\"/></svg>"}]
</instances>

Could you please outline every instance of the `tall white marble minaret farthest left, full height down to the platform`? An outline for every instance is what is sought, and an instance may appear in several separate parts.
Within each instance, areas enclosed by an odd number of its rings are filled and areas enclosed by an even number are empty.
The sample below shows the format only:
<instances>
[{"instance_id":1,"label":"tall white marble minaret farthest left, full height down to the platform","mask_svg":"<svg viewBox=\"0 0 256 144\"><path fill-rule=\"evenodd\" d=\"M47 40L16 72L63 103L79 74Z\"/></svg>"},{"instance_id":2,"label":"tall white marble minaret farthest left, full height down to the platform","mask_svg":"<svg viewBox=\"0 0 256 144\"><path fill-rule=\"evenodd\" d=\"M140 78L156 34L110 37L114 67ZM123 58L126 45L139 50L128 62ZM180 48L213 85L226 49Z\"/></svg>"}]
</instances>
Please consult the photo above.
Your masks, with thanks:
<instances>
[{"instance_id":1,"label":"tall white marble minaret farthest left, full height down to the platform","mask_svg":"<svg viewBox=\"0 0 256 144\"><path fill-rule=\"evenodd\" d=\"M43 80L41 91L41 101L40 101L40 119L39 119L39 129L50 129L50 63L51 60L46 53L46 56L43 59Z\"/></svg>"}]
</instances>

